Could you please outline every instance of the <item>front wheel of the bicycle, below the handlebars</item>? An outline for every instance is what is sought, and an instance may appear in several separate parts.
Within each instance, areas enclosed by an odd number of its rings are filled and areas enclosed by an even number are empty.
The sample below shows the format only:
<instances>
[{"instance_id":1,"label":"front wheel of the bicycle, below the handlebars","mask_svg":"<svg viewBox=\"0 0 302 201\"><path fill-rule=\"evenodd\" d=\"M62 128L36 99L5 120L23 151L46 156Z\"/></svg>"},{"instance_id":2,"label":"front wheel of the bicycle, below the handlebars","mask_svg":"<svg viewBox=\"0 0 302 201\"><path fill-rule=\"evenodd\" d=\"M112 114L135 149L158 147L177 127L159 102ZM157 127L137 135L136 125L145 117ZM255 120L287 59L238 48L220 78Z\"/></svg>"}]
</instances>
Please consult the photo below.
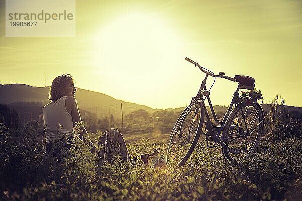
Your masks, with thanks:
<instances>
[{"instance_id":1,"label":"front wheel of the bicycle, below the handlebars","mask_svg":"<svg viewBox=\"0 0 302 201\"><path fill-rule=\"evenodd\" d=\"M204 121L204 108L194 103L185 108L170 134L166 163L183 166L192 154Z\"/></svg>"}]
</instances>

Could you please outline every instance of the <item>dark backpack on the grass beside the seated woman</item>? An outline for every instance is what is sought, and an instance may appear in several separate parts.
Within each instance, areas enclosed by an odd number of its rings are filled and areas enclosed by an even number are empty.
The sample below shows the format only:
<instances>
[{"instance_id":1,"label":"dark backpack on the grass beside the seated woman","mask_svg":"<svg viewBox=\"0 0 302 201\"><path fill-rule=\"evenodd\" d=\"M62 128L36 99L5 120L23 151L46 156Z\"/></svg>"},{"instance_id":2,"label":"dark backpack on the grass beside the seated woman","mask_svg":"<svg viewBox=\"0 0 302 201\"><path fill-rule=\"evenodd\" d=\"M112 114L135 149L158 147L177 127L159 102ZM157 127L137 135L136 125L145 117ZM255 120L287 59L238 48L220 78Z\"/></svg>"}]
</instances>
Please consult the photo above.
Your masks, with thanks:
<instances>
[{"instance_id":1,"label":"dark backpack on the grass beside the seated woman","mask_svg":"<svg viewBox=\"0 0 302 201\"><path fill-rule=\"evenodd\" d=\"M118 129L105 131L99 138L98 145L101 147L98 151L98 158L101 161L112 161L114 155L122 156L123 161L130 160L125 140Z\"/></svg>"}]
</instances>

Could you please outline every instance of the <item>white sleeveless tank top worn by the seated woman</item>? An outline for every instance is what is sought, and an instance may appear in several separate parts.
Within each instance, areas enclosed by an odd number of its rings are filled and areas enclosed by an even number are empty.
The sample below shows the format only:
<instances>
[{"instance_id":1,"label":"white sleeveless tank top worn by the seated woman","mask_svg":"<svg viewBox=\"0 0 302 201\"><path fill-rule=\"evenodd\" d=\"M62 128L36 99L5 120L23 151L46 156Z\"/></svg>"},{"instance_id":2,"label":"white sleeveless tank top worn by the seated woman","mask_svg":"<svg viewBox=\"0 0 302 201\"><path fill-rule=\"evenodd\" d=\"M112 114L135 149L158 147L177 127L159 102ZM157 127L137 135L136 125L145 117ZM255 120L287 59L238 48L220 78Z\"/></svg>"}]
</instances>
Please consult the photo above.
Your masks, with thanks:
<instances>
[{"instance_id":1,"label":"white sleeveless tank top worn by the seated woman","mask_svg":"<svg viewBox=\"0 0 302 201\"><path fill-rule=\"evenodd\" d=\"M48 103L43 108L46 145L66 136L73 137L72 116L66 109L66 97Z\"/></svg>"}]
</instances>

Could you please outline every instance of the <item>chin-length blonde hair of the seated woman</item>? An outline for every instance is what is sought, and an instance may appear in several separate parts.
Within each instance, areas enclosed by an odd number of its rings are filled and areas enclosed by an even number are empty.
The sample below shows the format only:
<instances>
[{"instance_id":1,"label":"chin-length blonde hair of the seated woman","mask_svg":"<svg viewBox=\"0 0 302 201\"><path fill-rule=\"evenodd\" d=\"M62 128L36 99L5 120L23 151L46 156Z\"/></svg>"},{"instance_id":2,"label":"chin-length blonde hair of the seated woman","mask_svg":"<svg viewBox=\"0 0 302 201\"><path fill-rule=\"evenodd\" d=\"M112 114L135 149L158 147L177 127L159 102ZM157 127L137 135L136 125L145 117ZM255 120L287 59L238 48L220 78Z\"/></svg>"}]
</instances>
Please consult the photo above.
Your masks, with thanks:
<instances>
[{"instance_id":1,"label":"chin-length blonde hair of the seated woman","mask_svg":"<svg viewBox=\"0 0 302 201\"><path fill-rule=\"evenodd\" d=\"M57 100L64 96L63 88L67 86L69 81L74 82L74 79L71 77L70 74L63 74L62 76L57 76L52 81L51 87L49 88L49 98L48 100Z\"/></svg>"}]
</instances>

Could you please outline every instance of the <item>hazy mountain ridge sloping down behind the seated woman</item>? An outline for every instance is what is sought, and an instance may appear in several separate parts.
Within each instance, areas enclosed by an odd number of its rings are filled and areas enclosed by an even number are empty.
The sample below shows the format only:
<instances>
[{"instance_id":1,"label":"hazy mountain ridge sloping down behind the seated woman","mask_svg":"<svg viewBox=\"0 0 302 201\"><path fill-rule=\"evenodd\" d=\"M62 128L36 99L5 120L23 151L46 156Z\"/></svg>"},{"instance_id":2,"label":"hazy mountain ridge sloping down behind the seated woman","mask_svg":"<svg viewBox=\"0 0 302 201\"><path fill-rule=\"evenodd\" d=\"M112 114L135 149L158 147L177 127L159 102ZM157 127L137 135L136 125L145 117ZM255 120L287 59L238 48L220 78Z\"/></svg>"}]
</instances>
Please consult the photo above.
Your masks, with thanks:
<instances>
[{"instance_id":1,"label":"hazy mountain ridge sloping down behind the seated woman","mask_svg":"<svg viewBox=\"0 0 302 201\"><path fill-rule=\"evenodd\" d=\"M21 111L21 108L27 108L26 112L22 110L21 115L33 111L36 116L37 104L44 106L46 103L49 103L47 100L48 93L49 87L33 87L26 84L0 84L0 104L6 104L11 109L16 109L17 111ZM156 110L148 106L117 100L103 93L81 88L77 88L76 97L80 110L96 113L100 118L105 116L109 117L111 114L113 114L113 116L121 117L122 108L123 115L127 115L132 111L139 109L146 110L149 113ZM35 103L28 106L28 104L26 104L27 102ZM41 108L39 108L38 111L41 111Z\"/></svg>"}]
</instances>

